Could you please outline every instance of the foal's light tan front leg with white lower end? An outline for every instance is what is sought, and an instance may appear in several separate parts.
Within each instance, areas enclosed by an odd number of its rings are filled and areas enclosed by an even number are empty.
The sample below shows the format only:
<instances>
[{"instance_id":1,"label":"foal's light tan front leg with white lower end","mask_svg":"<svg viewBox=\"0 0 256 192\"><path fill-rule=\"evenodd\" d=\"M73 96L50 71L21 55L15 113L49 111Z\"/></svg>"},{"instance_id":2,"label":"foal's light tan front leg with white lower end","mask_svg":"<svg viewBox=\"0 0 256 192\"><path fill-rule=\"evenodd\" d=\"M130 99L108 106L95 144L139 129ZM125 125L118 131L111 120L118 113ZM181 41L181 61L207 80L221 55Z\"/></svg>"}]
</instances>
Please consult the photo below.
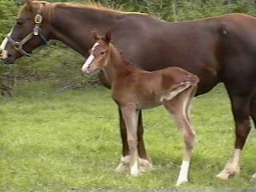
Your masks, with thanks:
<instances>
[{"instance_id":1,"label":"foal's light tan front leg with white lower end","mask_svg":"<svg viewBox=\"0 0 256 192\"><path fill-rule=\"evenodd\" d=\"M133 106L121 107L126 124L127 142L130 150L130 174L138 175L138 111Z\"/></svg>"}]
</instances>

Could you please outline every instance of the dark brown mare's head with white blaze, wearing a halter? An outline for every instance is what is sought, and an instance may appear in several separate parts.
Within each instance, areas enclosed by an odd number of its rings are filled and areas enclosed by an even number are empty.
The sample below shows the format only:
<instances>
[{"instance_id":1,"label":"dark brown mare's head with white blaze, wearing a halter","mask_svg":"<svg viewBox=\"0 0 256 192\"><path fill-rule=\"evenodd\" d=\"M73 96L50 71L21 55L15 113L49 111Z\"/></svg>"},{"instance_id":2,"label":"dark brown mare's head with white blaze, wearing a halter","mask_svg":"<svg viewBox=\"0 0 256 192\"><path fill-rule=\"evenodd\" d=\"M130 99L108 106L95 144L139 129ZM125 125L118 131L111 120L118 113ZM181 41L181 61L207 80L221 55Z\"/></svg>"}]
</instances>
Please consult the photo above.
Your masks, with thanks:
<instances>
[{"instance_id":1,"label":"dark brown mare's head with white blaze, wearing a halter","mask_svg":"<svg viewBox=\"0 0 256 192\"><path fill-rule=\"evenodd\" d=\"M32 50L46 44L50 35L50 26L46 23L50 13L46 11L46 4L48 2L26 0L0 46L0 58L6 64L12 64L22 56L29 57Z\"/></svg>"}]
</instances>

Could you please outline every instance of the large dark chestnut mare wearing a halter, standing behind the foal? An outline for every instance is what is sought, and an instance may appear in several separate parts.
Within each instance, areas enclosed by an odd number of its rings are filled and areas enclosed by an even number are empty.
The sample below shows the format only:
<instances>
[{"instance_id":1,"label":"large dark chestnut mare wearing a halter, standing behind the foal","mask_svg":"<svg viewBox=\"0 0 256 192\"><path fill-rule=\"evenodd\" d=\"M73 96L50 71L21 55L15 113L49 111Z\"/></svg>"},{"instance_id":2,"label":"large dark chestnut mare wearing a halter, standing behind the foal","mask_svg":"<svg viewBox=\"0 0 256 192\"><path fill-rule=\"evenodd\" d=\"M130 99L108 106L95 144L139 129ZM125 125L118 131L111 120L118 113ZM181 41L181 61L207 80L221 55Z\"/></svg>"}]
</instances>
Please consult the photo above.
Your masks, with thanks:
<instances>
[{"instance_id":1,"label":"large dark chestnut mare wearing a halter, standing behind the foal","mask_svg":"<svg viewBox=\"0 0 256 192\"><path fill-rule=\"evenodd\" d=\"M218 178L227 179L238 173L239 158L250 133L250 117L256 122L256 18L226 14L188 22L164 22L149 14L26 0L9 38L2 42L1 58L5 63L14 63L50 39L64 42L83 55L94 43L90 31L95 28L99 33L109 28L115 46L134 66L151 71L178 66L196 74L200 79L197 95L207 93L218 82L225 84L236 138L234 152ZM103 85L110 87L104 75L100 78ZM120 109L119 114L122 156L126 157L130 151ZM143 142L141 111L138 154L150 162Z\"/></svg>"}]
</instances>

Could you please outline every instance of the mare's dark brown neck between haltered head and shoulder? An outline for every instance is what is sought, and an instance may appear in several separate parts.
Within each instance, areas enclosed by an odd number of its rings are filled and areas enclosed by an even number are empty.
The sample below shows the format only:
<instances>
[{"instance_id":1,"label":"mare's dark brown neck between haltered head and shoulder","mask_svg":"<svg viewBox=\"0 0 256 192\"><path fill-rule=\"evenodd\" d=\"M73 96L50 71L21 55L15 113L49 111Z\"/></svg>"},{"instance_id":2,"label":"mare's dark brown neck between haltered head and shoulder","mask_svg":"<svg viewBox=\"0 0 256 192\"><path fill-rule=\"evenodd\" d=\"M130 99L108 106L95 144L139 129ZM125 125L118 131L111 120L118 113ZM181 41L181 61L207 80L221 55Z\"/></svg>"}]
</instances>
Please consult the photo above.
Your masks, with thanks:
<instances>
[{"instance_id":1,"label":"mare's dark brown neck between haltered head and shoulder","mask_svg":"<svg viewBox=\"0 0 256 192\"><path fill-rule=\"evenodd\" d=\"M53 14L52 38L65 43L82 55L88 54L86 50L94 43L91 31L97 30L98 33L104 34L123 14L93 6L57 3Z\"/></svg>"}]
</instances>

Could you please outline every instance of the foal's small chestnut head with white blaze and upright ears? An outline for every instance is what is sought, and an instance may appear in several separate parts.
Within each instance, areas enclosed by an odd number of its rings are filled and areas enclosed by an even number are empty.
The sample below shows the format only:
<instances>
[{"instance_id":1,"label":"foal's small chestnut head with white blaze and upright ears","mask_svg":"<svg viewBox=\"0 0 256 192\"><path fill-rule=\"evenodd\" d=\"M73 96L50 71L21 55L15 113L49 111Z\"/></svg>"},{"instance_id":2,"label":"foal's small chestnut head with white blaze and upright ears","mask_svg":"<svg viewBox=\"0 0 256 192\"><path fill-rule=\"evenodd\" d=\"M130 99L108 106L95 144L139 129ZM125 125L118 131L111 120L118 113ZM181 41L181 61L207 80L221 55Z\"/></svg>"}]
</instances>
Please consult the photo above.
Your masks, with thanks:
<instances>
[{"instance_id":1,"label":"foal's small chestnut head with white blaze and upright ears","mask_svg":"<svg viewBox=\"0 0 256 192\"><path fill-rule=\"evenodd\" d=\"M96 32L93 32L95 43L89 50L90 56L86 59L86 62L82 66L82 72L85 74L91 74L96 70L102 69L106 66L109 58L111 32L108 30L105 36L98 36Z\"/></svg>"}]
</instances>

